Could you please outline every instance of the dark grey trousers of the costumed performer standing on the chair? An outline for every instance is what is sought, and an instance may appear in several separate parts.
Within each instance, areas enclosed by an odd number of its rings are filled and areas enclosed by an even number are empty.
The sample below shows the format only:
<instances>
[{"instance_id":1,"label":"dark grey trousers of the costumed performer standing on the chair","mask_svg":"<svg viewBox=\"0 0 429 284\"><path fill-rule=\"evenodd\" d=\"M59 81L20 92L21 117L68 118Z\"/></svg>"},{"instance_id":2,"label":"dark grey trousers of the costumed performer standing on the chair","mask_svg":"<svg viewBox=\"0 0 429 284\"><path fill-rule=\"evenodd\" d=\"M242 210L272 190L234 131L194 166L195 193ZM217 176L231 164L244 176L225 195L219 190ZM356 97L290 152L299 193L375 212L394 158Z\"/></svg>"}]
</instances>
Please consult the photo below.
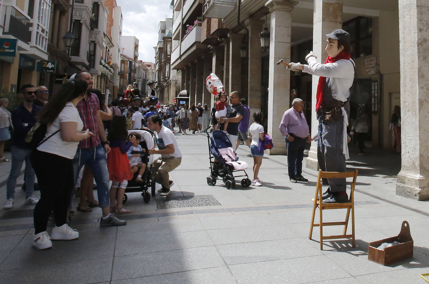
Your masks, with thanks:
<instances>
[{"instance_id":1,"label":"dark grey trousers of the costumed performer standing on the chair","mask_svg":"<svg viewBox=\"0 0 429 284\"><path fill-rule=\"evenodd\" d=\"M321 118L319 118L319 124ZM322 171L326 172L345 172L346 159L343 154L343 121L325 121L321 123L322 135L320 151L317 151L317 158L319 159L319 166L324 164ZM319 150L319 148L317 149ZM320 152L320 153L319 153ZM332 192L346 190L345 178L328 178L330 190Z\"/></svg>"}]
</instances>

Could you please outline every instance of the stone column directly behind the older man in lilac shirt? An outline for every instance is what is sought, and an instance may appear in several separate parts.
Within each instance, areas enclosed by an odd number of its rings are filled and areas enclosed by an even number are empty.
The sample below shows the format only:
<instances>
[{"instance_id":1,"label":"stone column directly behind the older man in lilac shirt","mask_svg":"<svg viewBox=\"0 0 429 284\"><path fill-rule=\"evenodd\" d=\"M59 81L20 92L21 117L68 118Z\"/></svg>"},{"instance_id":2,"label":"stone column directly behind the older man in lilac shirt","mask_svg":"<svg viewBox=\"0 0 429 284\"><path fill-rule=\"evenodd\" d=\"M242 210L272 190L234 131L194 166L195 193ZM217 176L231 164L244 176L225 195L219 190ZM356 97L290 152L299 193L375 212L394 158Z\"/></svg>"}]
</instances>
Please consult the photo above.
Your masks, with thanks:
<instances>
[{"instance_id":1,"label":"stone column directly behind the older man in lilac shirt","mask_svg":"<svg viewBox=\"0 0 429 284\"><path fill-rule=\"evenodd\" d=\"M278 126L289 109L290 71L276 62L290 62L291 12L296 1L269 0L265 6L271 13L268 79L268 133L275 147L269 154L286 154L286 143Z\"/></svg>"}]
</instances>

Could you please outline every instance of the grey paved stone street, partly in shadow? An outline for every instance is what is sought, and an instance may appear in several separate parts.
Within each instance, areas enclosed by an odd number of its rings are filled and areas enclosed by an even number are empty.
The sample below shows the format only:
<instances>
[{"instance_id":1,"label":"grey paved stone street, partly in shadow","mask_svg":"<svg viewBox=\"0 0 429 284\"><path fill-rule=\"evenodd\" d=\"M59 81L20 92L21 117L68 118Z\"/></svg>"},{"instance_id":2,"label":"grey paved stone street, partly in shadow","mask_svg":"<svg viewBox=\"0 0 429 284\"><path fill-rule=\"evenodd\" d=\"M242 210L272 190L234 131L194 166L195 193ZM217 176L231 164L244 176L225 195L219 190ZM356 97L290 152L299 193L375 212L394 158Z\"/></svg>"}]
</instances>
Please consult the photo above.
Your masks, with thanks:
<instances>
[{"instance_id":1,"label":"grey paved stone street, partly in shadow","mask_svg":"<svg viewBox=\"0 0 429 284\"><path fill-rule=\"evenodd\" d=\"M211 187L206 182L207 136L176 133L176 138L183 158L170 175L175 184L167 199L157 193L146 204L140 193L127 193L126 206L133 213L120 216L128 221L123 227L99 227L100 208L76 211L70 226L79 231L79 239L53 241L45 251L30 244L34 206L24 205L22 174L14 207L0 208L1 282L424 283L420 274L429 273L428 203L395 195L398 154L369 148L365 156L358 156L350 146L347 167L359 169L356 248L343 239L325 241L320 251L317 227L313 240L308 239L317 172L304 168L309 182L292 184L286 156L266 155L259 175L262 187L243 188L239 179L236 190L228 190L221 180ZM237 151L252 177L249 152L243 145ZM0 163L1 205L9 169L10 163ZM74 209L78 201L73 199ZM205 206L181 207L193 201ZM341 221L344 216L345 209L323 214L324 221ZM398 235L404 220L410 224L414 257L391 266L369 261L368 243ZM342 229L331 226L324 232L340 234Z\"/></svg>"}]
</instances>

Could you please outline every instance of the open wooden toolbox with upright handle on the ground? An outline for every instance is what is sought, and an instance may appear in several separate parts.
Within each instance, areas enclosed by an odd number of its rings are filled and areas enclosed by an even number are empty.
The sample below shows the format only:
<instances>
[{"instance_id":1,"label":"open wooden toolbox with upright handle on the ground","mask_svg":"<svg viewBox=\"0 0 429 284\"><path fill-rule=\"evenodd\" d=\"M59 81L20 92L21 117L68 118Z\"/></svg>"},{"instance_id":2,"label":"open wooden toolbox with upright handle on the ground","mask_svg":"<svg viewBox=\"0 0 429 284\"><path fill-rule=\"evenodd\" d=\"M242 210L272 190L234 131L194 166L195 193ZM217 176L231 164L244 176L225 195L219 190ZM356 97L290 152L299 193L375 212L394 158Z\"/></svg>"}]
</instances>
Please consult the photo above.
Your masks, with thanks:
<instances>
[{"instance_id":1,"label":"open wooden toolbox with upright handle on the ground","mask_svg":"<svg viewBox=\"0 0 429 284\"><path fill-rule=\"evenodd\" d=\"M384 250L378 249L384 242L392 243L395 241L400 242L400 244L384 248ZM382 265L389 265L399 260L413 257L413 248L414 242L413 238L411 238L410 225L407 221L404 221L398 236L369 243L368 260Z\"/></svg>"}]
</instances>

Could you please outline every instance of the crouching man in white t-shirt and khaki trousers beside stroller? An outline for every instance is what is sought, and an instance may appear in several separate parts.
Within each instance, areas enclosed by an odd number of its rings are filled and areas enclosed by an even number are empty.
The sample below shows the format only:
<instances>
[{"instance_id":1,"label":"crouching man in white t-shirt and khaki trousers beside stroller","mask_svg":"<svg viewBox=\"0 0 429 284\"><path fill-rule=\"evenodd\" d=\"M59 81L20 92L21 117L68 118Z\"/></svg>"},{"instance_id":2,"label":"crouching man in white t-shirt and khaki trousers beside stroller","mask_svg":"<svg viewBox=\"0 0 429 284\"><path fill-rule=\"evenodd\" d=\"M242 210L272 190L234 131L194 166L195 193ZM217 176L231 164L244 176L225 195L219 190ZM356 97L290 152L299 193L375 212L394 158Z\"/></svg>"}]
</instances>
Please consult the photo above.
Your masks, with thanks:
<instances>
[{"instance_id":1,"label":"crouching man in white t-shirt and khaki trousers beside stroller","mask_svg":"<svg viewBox=\"0 0 429 284\"><path fill-rule=\"evenodd\" d=\"M152 163L156 182L162 185L162 188L158 192L161 193L161 196L167 196L170 194L170 187L173 185L173 181L170 181L168 173L180 165L182 154L174 134L162 125L159 115L149 116L148 127L154 131L158 147L158 150L150 148L149 154L161 154L161 157Z\"/></svg>"}]
</instances>

